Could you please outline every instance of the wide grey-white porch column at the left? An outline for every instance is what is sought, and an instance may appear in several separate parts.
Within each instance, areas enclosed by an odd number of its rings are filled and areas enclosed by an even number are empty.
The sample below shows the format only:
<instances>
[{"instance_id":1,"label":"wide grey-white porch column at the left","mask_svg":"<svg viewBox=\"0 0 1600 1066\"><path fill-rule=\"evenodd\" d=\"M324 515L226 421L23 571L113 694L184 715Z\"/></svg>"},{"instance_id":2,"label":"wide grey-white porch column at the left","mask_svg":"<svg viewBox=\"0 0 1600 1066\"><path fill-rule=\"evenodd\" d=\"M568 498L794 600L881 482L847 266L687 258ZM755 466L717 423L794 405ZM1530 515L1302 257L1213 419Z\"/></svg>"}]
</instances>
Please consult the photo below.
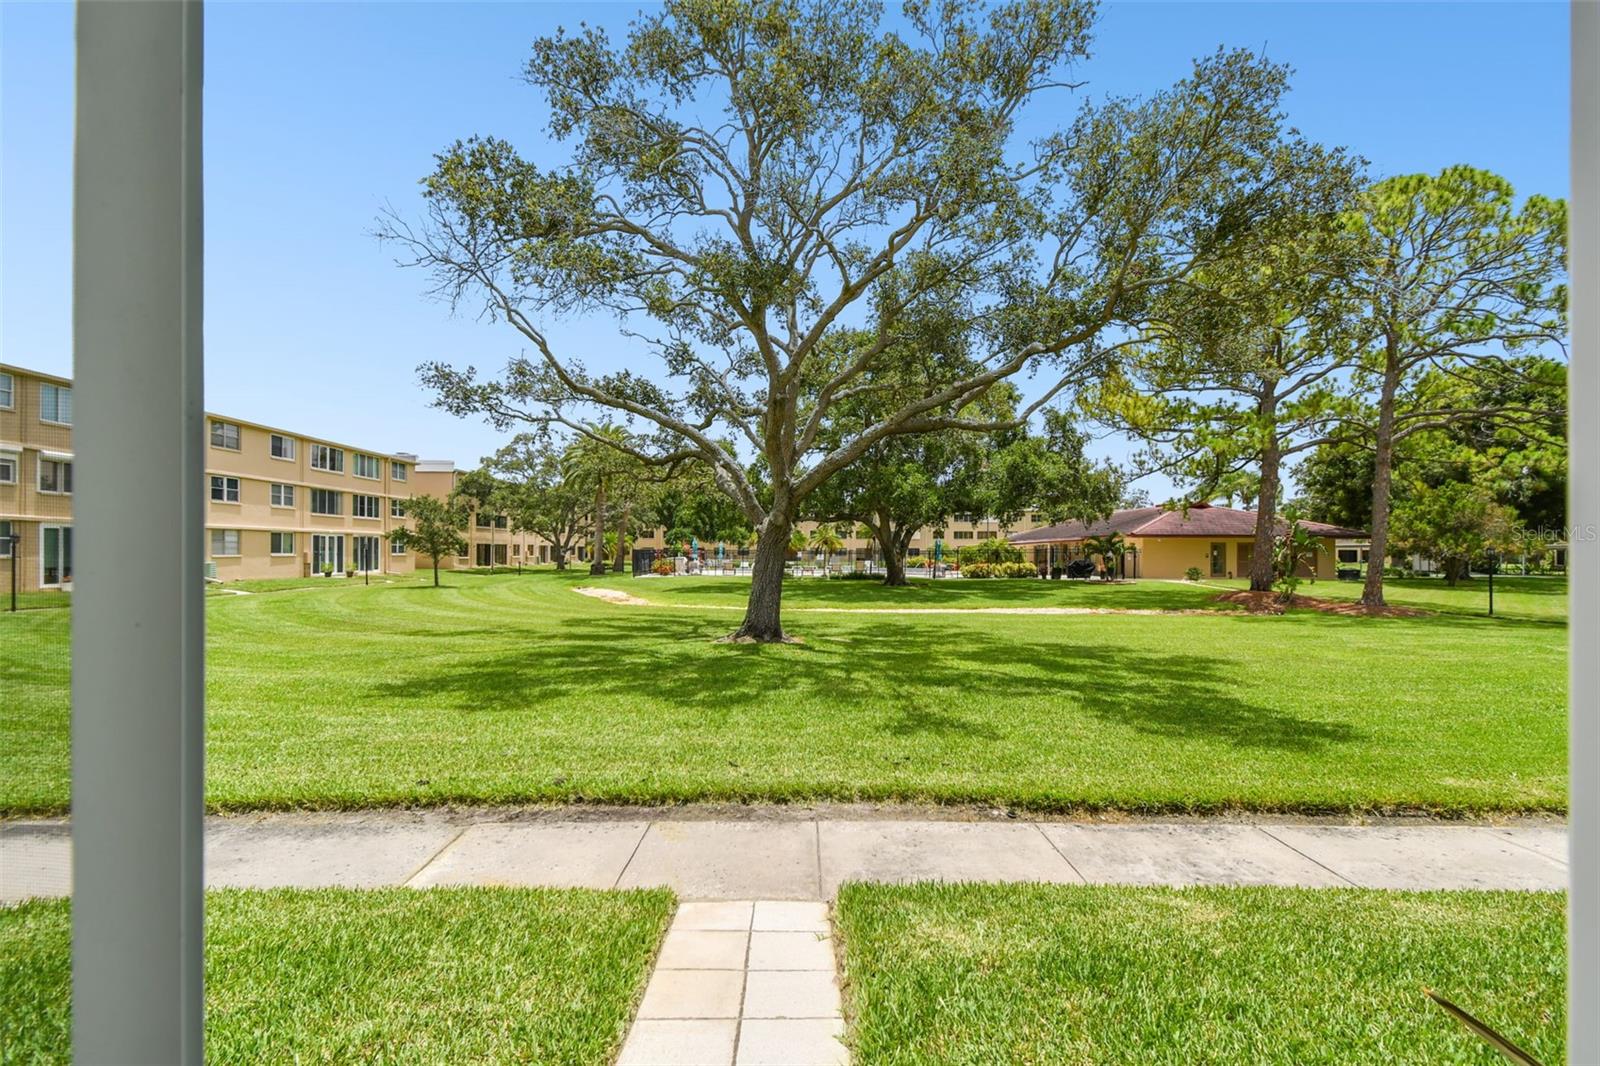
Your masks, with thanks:
<instances>
[{"instance_id":1,"label":"wide grey-white porch column at the left","mask_svg":"<svg viewBox=\"0 0 1600 1066\"><path fill-rule=\"evenodd\" d=\"M202 1061L198 0L77 11L72 1042Z\"/></svg>"}]
</instances>

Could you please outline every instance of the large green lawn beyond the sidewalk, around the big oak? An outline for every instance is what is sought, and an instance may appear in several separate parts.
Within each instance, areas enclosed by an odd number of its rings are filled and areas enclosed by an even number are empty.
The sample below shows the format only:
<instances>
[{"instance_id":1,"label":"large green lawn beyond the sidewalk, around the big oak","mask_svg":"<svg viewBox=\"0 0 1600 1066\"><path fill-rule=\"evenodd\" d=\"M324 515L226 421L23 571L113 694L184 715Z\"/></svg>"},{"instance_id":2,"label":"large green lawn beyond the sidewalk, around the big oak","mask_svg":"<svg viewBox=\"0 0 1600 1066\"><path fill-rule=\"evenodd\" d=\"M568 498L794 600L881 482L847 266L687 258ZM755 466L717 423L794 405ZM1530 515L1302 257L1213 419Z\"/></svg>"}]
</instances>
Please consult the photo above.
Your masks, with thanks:
<instances>
[{"instance_id":1,"label":"large green lawn beyond the sidewalk, around the big oak","mask_svg":"<svg viewBox=\"0 0 1600 1066\"><path fill-rule=\"evenodd\" d=\"M1019 808L1565 810L1566 631L1518 618L794 613L714 643L736 583L325 581L208 603L216 808L914 800ZM1323 584L1320 583L1318 589ZM981 587L979 587L981 586ZM792 605L1146 605L1094 589L792 581ZM1206 592L1210 594L1210 591ZM70 611L0 615L0 812L67 805Z\"/></svg>"}]
</instances>

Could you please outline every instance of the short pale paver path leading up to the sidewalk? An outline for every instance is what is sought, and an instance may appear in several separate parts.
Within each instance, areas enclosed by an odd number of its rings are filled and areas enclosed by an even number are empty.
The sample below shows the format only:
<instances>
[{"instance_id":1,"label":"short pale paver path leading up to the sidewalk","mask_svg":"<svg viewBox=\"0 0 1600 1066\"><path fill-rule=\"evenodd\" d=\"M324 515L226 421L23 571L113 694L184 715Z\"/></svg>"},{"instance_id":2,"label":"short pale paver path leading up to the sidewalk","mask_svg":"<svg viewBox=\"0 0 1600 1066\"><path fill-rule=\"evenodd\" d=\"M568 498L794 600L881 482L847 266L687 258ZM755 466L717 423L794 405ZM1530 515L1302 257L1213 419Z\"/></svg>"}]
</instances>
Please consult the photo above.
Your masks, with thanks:
<instances>
[{"instance_id":1,"label":"short pale paver path leading up to the sidewalk","mask_svg":"<svg viewBox=\"0 0 1600 1066\"><path fill-rule=\"evenodd\" d=\"M618 1066L838 1066L843 1032L826 903L685 903Z\"/></svg>"}]
</instances>

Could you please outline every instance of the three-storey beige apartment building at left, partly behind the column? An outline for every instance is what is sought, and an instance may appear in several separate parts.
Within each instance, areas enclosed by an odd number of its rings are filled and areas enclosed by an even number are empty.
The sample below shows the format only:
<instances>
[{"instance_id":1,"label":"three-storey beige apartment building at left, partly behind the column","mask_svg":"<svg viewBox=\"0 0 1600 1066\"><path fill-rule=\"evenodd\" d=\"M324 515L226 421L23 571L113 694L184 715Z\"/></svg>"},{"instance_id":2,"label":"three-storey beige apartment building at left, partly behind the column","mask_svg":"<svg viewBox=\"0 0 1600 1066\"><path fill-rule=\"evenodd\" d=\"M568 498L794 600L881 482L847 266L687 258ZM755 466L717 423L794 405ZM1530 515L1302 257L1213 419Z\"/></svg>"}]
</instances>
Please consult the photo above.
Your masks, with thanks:
<instances>
[{"instance_id":1,"label":"three-storey beige apartment building at left, partly behind the column","mask_svg":"<svg viewBox=\"0 0 1600 1066\"><path fill-rule=\"evenodd\" d=\"M413 455L208 415L208 576L411 573L413 555L384 535L405 523L414 466ZM0 363L3 592L13 563L18 591L72 587L72 381Z\"/></svg>"}]
</instances>

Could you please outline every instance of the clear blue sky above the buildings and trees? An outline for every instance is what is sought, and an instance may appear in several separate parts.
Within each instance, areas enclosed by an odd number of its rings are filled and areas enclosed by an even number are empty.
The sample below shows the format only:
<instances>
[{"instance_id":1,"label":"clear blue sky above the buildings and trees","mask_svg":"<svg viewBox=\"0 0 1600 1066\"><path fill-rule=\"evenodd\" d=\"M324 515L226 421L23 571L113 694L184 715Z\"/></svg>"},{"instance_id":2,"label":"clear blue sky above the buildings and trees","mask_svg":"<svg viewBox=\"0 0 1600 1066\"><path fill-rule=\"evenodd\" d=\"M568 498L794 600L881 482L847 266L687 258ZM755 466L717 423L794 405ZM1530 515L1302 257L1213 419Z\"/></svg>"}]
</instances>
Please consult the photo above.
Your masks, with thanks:
<instances>
[{"instance_id":1,"label":"clear blue sky above the buildings and trees","mask_svg":"<svg viewBox=\"0 0 1600 1066\"><path fill-rule=\"evenodd\" d=\"M538 158L530 42L637 3L211 3L206 10L206 405L475 464L501 434L432 410L422 360L498 368L506 327L451 319L371 237L458 136ZM1568 192L1565 3L1110 3L1088 93L1147 93L1218 45L1294 67L1290 115L1374 174L1474 163ZM1062 102L1069 102L1062 98ZM1062 115L1066 118L1066 112ZM72 6L0 2L0 360L70 373ZM590 368L605 322L555 336ZM1120 447L1106 442L1117 455ZM1165 485L1149 485L1163 498Z\"/></svg>"}]
</instances>

